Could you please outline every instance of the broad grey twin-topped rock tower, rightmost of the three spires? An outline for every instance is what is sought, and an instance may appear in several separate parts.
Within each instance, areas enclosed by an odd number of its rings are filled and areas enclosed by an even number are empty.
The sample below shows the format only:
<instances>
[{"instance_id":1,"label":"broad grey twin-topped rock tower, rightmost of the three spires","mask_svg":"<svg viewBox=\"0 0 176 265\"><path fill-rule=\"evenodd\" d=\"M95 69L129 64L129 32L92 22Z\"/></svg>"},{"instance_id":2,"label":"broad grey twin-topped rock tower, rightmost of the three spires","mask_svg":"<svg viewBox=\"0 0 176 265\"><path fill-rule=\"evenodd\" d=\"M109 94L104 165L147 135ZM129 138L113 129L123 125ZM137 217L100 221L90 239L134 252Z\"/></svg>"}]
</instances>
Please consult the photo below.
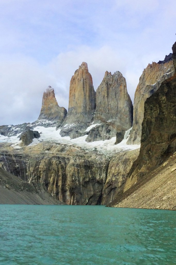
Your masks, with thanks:
<instances>
[{"instance_id":1,"label":"broad grey twin-topped rock tower, rightmost of the three spires","mask_svg":"<svg viewBox=\"0 0 176 265\"><path fill-rule=\"evenodd\" d=\"M87 142L108 140L121 130L132 127L133 105L127 92L126 80L117 71L105 72L105 76L96 91L96 111L94 124L89 131Z\"/></svg>"}]
</instances>

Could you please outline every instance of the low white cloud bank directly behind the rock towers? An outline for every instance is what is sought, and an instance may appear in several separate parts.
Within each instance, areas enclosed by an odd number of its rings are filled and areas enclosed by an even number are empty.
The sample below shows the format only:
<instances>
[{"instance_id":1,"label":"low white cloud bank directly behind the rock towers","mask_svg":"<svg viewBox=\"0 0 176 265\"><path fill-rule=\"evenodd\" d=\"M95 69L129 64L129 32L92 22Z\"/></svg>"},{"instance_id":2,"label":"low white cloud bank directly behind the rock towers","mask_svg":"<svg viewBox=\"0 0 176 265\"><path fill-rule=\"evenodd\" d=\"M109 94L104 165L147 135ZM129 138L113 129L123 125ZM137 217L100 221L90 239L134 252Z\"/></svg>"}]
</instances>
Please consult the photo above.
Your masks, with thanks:
<instances>
[{"instance_id":1,"label":"low white cloud bank directly behind the rock towers","mask_svg":"<svg viewBox=\"0 0 176 265\"><path fill-rule=\"evenodd\" d=\"M130 64L133 59L133 56L128 56ZM1 56L0 60L3 62L0 65L1 124L36 120L40 113L43 92L48 85L54 88L59 106L68 109L70 80L82 61L88 63L95 90L106 70L112 73L119 70L126 77L132 99L138 83L138 77L133 70L129 70L131 67L126 64L124 55L109 46L99 49L89 46L75 47L72 51L59 54L44 66L21 54L10 58Z\"/></svg>"}]
</instances>

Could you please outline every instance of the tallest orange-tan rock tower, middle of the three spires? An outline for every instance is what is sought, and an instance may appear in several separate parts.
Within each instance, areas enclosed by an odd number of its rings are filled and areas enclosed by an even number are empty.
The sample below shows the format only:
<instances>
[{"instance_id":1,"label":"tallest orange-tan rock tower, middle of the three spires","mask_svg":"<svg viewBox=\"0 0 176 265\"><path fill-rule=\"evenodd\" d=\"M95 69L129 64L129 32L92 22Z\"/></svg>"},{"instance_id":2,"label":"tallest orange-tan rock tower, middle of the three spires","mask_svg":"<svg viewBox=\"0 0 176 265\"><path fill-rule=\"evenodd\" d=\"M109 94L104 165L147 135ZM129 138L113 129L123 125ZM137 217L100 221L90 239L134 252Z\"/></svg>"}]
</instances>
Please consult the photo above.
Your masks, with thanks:
<instances>
[{"instance_id":1,"label":"tallest orange-tan rock tower, middle of the three spires","mask_svg":"<svg viewBox=\"0 0 176 265\"><path fill-rule=\"evenodd\" d=\"M95 107L96 92L92 77L87 63L83 62L70 81L68 113L62 125L61 136L69 135L76 138L77 135L84 135L85 129L92 122Z\"/></svg>"}]
</instances>

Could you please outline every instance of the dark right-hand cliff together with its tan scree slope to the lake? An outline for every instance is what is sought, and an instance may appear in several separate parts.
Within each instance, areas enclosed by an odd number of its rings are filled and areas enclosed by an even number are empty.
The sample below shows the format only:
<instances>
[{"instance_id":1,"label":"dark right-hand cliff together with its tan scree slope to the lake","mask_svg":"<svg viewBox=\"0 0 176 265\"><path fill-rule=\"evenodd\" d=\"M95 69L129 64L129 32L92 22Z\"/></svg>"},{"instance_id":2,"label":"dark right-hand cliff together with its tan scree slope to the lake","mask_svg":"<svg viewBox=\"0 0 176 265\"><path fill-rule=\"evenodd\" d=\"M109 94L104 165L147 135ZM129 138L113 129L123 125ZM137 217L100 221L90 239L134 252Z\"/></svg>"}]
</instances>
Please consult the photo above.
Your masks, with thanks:
<instances>
[{"instance_id":1,"label":"dark right-hand cliff together with its tan scree slope to the lake","mask_svg":"<svg viewBox=\"0 0 176 265\"><path fill-rule=\"evenodd\" d=\"M176 42L172 50L176 66ZM116 206L136 207L136 200L138 207L176 209L175 88L176 73L163 81L159 89L146 99L140 153L129 171L124 193L116 198L116 202L114 201ZM143 195L140 197L138 189L143 191L145 198ZM130 198L129 203L128 198ZM147 202L146 198L150 199L150 202Z\"/></svg>"}]
</instances>

